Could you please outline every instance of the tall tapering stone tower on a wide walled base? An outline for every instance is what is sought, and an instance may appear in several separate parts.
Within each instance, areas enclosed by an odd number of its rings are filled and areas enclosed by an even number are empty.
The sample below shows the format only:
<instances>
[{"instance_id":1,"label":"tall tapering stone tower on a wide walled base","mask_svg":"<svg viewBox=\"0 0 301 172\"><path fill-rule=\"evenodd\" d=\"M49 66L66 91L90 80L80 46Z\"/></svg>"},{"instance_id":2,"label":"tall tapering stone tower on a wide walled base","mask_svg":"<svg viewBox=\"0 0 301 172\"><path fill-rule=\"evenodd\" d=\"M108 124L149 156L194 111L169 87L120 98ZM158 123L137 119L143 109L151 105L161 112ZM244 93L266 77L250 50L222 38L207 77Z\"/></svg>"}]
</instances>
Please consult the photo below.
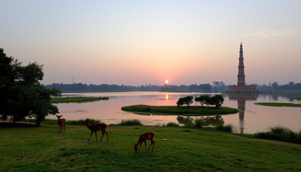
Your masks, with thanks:
<instances>
[{"instance_id":1,"label":"tall tapering stone tower on a wide walled base","mask_svg":"<svg viewBox=\"0 0 301 172\"><path fill-rule=\"evenodd\" d=\"M243 45L240 42L240 51L239 51L239 65L238 65L238 75L237 75L237 85L229 86L227 92L257 92L257 86L248 86L246 85L244 74L244 57L243 57Z\"/></svg>"}]
</instances>

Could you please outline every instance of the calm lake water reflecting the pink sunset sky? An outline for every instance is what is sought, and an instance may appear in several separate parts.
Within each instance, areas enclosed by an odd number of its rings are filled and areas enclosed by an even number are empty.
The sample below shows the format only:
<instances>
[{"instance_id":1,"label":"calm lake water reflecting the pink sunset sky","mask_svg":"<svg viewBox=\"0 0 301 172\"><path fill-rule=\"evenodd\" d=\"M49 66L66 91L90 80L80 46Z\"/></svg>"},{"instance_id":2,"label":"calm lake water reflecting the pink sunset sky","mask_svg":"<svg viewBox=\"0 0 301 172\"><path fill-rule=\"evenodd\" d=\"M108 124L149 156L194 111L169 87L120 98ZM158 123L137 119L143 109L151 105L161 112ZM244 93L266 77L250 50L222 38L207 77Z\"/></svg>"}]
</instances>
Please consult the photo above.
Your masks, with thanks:
<instances>
[{"instance_id":1,"label":"calm lake water reflecting the pink sunset sky","mask_svg":"<svg viewBox=\"0 0 301 172\"><path fill-rule=\"evenodd\" d=\"M195 118L179 115L141 115L124 112L121 107L128 105L176 105L180 97L215 94L204 93L166 93L166 92L106 92L106 93L63 93L62 96L109 97L109 100L83 103L56 103L61 115L67 120L95 118L106 124L117 123L122 119L138 118L145 125L163 125L172 121L183 125ZM294 130L301 129L301 108L269 107L254 105L256 102L301 103L300 100L289 99L301 97L296 94L222 94L223 106L238 108L237 114L204 116L208 123L232 123L240 128L240 133L254 133L266 130L269 126L283 124ZM195 105L195 104L193 104ZM199 105L199 104L198 104ZM48 118L54 119L55 116Z\"/></svg>"}]
</instances>

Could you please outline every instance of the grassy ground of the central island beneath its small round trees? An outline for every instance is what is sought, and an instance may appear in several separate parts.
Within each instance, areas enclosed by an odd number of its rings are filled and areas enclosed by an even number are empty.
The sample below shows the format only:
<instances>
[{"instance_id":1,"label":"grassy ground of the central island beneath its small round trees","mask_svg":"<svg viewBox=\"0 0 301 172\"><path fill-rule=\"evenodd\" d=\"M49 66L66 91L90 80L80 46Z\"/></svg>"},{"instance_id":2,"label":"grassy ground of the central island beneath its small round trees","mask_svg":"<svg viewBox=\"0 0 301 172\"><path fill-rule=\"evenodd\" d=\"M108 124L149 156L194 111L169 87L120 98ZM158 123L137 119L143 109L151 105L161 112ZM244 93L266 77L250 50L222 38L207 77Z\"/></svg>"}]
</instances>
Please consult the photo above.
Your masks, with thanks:
<instances>
[{"instance_id":1,"label":"grassy ground of the central island beneath its small round trees","mask_svg":"<svg viewBox=\"0 0 301 172\"><path fill-rule=\"evenodd\" d=\"M121 108L123 111L144 112L144 113L158 113L158 114L194 114L194 115L208 115L208 114L234 114L238 113L235 108L228 107L207 107L207 106L148 106L148 105L132 105ZM186 115L187 116L187 115Z\"/></svg>"}]
</instances>

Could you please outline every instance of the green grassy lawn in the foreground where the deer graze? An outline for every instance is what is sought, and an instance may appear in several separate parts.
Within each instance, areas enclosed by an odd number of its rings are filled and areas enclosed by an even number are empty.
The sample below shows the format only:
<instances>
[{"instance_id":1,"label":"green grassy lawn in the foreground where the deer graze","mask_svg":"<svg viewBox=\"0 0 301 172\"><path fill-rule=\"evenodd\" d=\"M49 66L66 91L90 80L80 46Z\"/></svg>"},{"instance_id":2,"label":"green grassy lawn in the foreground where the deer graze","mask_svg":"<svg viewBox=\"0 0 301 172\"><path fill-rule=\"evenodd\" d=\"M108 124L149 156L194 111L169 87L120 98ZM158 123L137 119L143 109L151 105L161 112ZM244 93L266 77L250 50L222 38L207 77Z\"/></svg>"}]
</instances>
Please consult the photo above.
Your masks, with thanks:
<instances>
[{"instance_id":1,"label":"green grassy lawn in the foreground where the deer graze","mask_svg":"<svg viewBox=\"0 0 301 172\"><path fill-rule=\"evenodd\" d=\"M211 129L108 126L108 142L90 142L85 126L1 128L0 169L9 171L300 171L301 145ZM153 131L154 152L133 143ZM101 133L98 132L98 139ZM106 136L104 136L104 139ZM168 141L162 141L162 139ZM147 141L147 146L150 141Z\"/></svg>"}]
</instances>

